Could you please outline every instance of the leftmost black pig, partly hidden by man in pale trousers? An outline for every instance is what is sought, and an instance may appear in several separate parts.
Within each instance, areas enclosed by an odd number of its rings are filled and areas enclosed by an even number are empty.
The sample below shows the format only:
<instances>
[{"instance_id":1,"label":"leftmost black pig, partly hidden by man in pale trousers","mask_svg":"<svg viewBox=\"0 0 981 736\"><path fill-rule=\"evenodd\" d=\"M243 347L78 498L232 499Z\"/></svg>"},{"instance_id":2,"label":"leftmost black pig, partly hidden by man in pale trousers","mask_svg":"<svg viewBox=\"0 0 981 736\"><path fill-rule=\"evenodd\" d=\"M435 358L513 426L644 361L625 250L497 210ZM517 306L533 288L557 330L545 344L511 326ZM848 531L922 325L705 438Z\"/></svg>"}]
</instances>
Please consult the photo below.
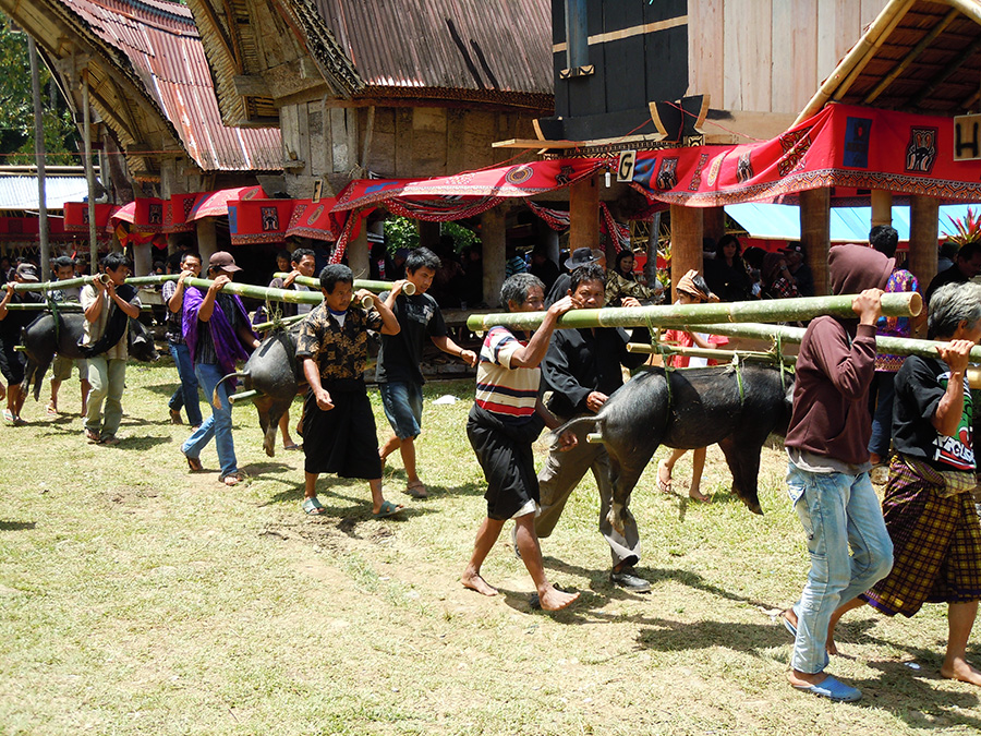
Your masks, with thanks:
<instances>
[{"instance_id":1,"label":"leftmost black pig, partly hidden by man in pale trousers","mask_svg":"<svg viewBox=\"0 0 981 736\"><path fill-rule=\"evenodd\" d=\"M57 330L53 314L43 314L21 330L21 341L27 355L24 385L29 388L34 384L35 401L40 398L41 382L55 360L55 353L72 360L85 357L78 350L78 341L85 334L85 315L60 314L58 319ZM126 336L131 357L145 363L153 363L160 357L153 335L138 319L130 319Z\"/></svg>"}]
</instances>

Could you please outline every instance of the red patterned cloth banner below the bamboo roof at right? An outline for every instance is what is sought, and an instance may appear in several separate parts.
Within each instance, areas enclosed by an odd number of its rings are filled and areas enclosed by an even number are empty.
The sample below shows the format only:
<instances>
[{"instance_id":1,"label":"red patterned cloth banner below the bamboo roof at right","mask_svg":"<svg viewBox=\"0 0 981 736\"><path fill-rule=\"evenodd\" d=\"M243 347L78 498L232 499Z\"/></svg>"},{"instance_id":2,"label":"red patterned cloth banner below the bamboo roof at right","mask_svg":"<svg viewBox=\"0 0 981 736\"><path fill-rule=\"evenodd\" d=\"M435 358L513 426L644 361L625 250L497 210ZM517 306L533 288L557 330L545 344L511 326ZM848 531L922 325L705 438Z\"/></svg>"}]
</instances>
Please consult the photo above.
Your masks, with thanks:
<instances>
[{"instance_id":1,"label":"red patterned cloth banner below the bamboo roof at right","mask_svg":"<svg viewBox=\"0 0 981 736\"><path fill-rule=\"evenodd\" d=\"M633 186L689 207L829 186L981 201L981 160L955 161L954 146L952 118L828 105L772 141L639 153Z\"/></svg>"}]
</instances>

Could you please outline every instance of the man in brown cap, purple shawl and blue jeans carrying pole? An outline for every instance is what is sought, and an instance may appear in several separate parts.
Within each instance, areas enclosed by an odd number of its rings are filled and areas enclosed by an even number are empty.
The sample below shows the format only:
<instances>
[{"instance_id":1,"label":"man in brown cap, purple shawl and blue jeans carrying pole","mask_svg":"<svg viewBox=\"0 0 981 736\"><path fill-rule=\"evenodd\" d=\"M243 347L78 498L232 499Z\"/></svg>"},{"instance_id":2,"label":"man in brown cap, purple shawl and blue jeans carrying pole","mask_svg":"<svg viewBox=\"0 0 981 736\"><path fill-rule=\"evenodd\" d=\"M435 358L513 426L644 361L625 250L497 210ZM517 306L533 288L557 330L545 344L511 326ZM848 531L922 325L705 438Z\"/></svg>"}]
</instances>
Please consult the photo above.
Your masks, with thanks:
<instances>
[{"instance_id":1,"label":"man in brown cap, purple shawl and blue jeans carrying pole","mask_svg":"<svg viewBox=\"0 0 981 736\"><path fill-rule=\"evenodd\" d=\"M259 340L249 326L249 315L242 300L222 289L242 270L231 253L218 251L208 258L208 278L213 279L206 293L195 288L184 290L182 327L184 341L194 361L194 373L205 397L211 405L211 415L198 426L181 446L192 472L202 470L201 451L215 438L221 472L218 480L228 486L242 481L235 459L231 433L231 402L229 390L233 379L220 383L235 371L235 362L249 358ZM232 386L229 386L229 383ZM215 388L218 387L216 403Z\"/></svg>"}]
</instances>

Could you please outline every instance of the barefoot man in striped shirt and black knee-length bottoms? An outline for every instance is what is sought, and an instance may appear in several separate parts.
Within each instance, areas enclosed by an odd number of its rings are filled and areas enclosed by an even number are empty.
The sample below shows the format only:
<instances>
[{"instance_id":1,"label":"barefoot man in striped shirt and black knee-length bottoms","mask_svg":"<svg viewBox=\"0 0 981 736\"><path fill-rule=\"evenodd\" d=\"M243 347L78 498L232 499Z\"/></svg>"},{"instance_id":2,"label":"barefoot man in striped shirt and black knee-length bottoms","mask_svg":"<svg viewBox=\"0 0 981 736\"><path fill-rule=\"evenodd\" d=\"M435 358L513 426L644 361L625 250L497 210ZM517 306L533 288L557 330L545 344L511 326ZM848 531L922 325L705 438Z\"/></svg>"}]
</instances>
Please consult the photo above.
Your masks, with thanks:
<instances>
[{"instance_id":1,"label":"barefoot man in striped shirt and black knee-length bottoms","mask_svg":"<svg viewBox=\"0 0 981 736\"><path fill-rule=\"evenodd\" d=\"M542 311L544 286L531 274L516 274L501 287L500 301L508 312ZM477 530L473 555L460 581L483 595L497 594L497 589L481 577L481 565L500 536L505 521L514 519L518 551L546 611L565 608L579 598L579 593L557 590L545 577L535 535L538 480L532 455L532 443L543 426L555 429L559 424L538 398L538 365L548 350L556 322L573 306L571 297L557 301L530 339L507 327L491 328L481 349L476 396L467 421L467 436L487 479L487 518ZM560 443L573 447L576 435L564 433Z\"/></svg>"}]
</instances>

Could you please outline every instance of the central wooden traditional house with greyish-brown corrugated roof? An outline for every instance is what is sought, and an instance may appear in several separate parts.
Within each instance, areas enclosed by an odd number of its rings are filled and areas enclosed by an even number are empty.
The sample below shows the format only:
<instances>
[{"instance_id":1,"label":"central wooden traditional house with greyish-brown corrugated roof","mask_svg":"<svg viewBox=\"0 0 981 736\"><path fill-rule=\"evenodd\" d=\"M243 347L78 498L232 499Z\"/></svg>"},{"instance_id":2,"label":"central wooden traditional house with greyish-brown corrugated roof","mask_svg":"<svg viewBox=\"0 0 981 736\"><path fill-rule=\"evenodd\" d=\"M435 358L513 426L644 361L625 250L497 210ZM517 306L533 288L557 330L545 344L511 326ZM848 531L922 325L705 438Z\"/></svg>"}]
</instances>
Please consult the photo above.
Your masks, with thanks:
<instances>
[{"instance_id":1,"label":"central wooden traditional house with greyish-brown corrugated roof","mask_svg":"<svg viewBox=\"0 0 981 736\"><path fill-rule=\"evenodd\" d=\"M189 0L222 119L282 130L279 188L332 196L368 172L443 177L493 166L553 110L548 0ZM277 182L263 179L267 192ZM311 204L313 204L311 202ZM502 276L505 213L482 215L485 293ZM422 225L423 241L435 228ZM349 262L366 268L364 229Z\"/></svg>"}]
</instances>

